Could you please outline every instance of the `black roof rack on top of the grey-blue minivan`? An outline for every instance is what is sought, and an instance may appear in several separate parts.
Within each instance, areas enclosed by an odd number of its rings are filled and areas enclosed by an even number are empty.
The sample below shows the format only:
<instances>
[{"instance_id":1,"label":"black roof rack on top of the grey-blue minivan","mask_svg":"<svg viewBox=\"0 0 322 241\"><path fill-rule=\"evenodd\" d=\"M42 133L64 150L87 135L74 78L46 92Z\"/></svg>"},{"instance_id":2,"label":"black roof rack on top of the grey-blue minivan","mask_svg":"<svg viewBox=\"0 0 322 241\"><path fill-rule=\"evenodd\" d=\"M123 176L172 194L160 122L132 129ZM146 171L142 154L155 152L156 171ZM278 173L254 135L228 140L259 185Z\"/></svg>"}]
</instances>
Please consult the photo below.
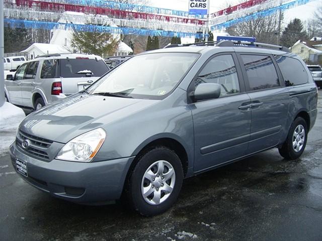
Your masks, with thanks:
<instances>
[{"instance_id":1,"label":"black roof rack on top of the grey-blue minivan","mask_svg":"<svg viewBox=\"0 0 322 241\"><path fill-rule=\"evenodd\" d=\"M173 47L183 47L183 46L216 46L216 47L257 47L257 48L265 48L265 49L278 49L285 52L290 52L288 48L279 45L273 44L264 44L250 41L234 41L234 40L224 40L224 41L208 41L208 42L198 42L192 44L171 44L166 46L165 48L173 48Z\"/></svg>"}]
</instances>

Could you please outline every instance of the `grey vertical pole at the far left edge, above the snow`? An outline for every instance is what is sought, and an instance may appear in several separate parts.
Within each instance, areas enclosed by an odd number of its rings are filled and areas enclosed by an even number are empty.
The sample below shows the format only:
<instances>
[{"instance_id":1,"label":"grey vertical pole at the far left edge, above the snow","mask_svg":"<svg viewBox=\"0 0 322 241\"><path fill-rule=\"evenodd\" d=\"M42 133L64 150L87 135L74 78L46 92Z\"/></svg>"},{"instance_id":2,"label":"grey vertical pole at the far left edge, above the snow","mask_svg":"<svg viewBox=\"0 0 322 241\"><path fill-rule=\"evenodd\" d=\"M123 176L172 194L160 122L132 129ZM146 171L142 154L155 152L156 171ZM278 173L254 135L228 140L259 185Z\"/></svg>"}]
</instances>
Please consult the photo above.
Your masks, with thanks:
<instances>
[{"instance_id":1,"label":"grey vertical pole at the far left edge, above the snow","mask_svg":"<svg viewBox=\"0 0 322 241\"><path fill-rule=\"evenodd\" d=\"M4 41L4 0L0 0L0 107L5 103L5 41Z\"/></svg>"}]
</instances>

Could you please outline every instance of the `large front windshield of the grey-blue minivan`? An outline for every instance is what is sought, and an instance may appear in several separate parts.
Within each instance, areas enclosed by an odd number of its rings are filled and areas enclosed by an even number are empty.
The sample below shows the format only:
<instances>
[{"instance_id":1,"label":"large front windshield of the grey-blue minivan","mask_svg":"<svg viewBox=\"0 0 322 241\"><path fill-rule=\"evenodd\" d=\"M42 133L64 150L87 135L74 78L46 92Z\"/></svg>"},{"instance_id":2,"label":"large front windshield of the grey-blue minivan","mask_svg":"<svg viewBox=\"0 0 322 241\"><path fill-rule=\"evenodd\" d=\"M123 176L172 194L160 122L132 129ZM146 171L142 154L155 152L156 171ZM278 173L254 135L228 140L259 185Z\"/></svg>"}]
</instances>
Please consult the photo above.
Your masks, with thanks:
<instances>
[{"instance_id":1,"label":"large front windshield of the grey-blue minivan","mask_svg":"<svg viewBox=\"0 0 322 241\"><path fill-rule=\"evenodd\" d=\"M196 61L197 53L151 53L122 63L87 90L91 94L162 99Z\"/></svg>"}]
</instances>

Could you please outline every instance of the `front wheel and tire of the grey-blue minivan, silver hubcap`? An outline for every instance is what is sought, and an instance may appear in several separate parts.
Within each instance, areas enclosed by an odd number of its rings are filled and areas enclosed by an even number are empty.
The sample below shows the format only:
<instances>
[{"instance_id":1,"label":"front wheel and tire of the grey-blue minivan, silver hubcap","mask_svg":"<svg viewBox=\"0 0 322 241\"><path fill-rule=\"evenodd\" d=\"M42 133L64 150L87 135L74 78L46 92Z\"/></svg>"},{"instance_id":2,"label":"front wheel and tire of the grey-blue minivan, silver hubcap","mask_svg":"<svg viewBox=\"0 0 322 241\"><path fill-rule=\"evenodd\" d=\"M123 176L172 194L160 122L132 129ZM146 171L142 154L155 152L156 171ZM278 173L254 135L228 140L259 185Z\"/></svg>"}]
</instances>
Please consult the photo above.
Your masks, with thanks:
<instances>
[{"instance_id":1,"label":"front wheel and tire of the grey-blue minivan, silver hubcap","mask_svg":"<svg viewBox=\"0 0 322 241\"><path fill-rule=\"evenodd\" d=\"M144 216L165 212L181 190L184 174L180 158L166 147L155 147L138 158L128 178L126 198Z\"/></svg>"}]
</instances>

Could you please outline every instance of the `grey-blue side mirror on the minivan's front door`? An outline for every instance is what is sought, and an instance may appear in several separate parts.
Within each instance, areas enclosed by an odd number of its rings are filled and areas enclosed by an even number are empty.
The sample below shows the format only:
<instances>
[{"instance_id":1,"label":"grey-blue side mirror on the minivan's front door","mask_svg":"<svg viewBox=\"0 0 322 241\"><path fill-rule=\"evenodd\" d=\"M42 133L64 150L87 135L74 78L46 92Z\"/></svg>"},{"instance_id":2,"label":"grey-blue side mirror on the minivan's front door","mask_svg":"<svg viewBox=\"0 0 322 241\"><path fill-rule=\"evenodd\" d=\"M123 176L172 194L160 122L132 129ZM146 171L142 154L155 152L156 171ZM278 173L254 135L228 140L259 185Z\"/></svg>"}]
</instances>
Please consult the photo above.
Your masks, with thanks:
<instances>
[{"instance_id":1,"label":"grey-blue side mirror on the minivan's front door","mask_svg":"<svg viewBox=\"0 0 322 241\"><path fill-rule=\"evenodd\" d=\"M215 99L220 96L220 85L215 83L201 83L196 87L195 100Z\"/></svg>"}]
</instances>

